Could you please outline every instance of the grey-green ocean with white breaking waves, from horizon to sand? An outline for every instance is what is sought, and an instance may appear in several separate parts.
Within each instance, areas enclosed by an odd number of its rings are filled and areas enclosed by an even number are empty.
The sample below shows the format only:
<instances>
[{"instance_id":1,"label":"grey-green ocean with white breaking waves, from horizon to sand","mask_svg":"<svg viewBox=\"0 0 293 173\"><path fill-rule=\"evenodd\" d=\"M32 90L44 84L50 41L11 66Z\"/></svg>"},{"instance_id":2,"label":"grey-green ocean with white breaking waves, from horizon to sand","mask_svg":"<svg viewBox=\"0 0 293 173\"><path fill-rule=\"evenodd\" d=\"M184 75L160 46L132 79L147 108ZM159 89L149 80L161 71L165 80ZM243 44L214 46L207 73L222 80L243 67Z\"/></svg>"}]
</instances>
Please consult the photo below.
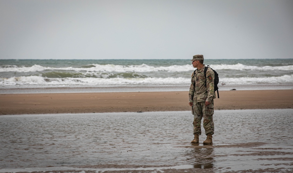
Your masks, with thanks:
<instances>
[{"instance_id":1,"label":"grey-green ocean with white breaking waves, from horizon to sand","mask_svg":"<svg viewBox=\"0 0 293 173\"><path fill-rule=\"evenodd\" d=\"M293 59L204 64L219 73L219 90L293 88ZM189 59L0 60L0 93L185 91L194 70Z\"/></svg>"}]
</instances>

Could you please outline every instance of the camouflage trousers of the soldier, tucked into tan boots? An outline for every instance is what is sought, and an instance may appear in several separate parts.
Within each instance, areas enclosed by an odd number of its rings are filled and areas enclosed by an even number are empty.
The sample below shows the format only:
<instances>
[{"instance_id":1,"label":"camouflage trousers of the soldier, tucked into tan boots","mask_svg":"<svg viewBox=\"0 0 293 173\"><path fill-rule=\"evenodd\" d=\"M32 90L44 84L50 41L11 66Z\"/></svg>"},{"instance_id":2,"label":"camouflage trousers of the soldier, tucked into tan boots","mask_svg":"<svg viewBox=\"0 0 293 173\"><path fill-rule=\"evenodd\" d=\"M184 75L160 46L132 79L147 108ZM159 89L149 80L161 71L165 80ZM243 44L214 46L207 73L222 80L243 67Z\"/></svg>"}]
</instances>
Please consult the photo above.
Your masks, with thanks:
<instances>
[{"instance_id":1,"label":"camouflage trousers of the soldier, tucked into tan boots","mask_svg":"<svg viewBox=\"0 0 293 173\"><path fill-rule=\"evenodd\" d=\"M205 102L193 102L192 106L193 114L193 134L201 135L201 120L203 117L203 127L205 128L205 134L214 134L214 100L211 104L206 106Z\"/></svg>"}]
</instances>

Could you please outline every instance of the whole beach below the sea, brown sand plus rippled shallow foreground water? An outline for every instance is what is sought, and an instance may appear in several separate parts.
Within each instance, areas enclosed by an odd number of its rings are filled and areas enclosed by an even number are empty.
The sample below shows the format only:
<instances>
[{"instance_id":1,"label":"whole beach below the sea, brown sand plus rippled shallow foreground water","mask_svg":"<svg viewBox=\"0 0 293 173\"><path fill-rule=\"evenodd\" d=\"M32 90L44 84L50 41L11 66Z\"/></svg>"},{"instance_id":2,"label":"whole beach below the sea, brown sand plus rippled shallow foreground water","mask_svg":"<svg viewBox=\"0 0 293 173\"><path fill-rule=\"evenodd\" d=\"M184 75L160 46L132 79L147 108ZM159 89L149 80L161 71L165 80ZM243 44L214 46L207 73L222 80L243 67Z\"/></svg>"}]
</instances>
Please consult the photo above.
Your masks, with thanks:
<instances>
[{"instance_id":1,"label":"whole beach below the sea, brown sand plus rippled shallow foreground water","mask_svg":"<svg viewBox=\"0 0 293 173\"><path fill-rule=\"evenodd\" d=\"M212 145L188 91L1 94L0 172L292 172L293 90L219 94Z\"/></svg>"}]
</instances>

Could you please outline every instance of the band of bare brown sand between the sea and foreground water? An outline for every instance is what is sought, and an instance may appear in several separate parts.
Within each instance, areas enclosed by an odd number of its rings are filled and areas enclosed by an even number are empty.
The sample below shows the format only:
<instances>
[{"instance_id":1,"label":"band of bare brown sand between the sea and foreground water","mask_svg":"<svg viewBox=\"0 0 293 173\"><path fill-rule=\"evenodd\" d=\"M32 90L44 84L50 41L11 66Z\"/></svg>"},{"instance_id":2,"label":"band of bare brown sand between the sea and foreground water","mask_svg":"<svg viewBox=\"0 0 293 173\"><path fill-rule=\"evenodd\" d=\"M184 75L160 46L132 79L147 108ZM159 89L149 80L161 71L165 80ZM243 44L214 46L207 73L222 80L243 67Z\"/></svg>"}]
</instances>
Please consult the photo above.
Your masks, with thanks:
<instances>
[{"instance_id":1,"label":"band of bare brown sand between the sea and foreground water","mask_svg":"<svg viewBox=\"0 0 293 173\"><path fill-rule=\"evenodd\" d=\"M293 90L220 91L215 110L293 108ZM188 91L1 94L0 115L186 111Z\"/></svg>"}]
</instances>

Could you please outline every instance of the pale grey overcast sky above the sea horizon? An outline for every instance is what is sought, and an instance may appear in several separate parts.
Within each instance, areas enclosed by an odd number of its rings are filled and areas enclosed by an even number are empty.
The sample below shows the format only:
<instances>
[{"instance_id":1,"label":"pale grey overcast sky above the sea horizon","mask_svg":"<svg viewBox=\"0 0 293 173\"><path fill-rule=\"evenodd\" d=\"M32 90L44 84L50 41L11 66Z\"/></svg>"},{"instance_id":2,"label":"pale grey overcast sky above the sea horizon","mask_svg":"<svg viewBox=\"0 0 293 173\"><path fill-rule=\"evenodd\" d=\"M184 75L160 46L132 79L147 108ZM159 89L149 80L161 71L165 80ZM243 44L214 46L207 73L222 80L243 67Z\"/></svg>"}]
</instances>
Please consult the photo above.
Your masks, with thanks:
<instances>
[{"instance_id":1,"label":"pale grey overcast sky above the sea horizon","mask_svg":"<svg viewBox=\"0 0 293 173\"><path fill-rule=\"evenodd\" d=\"M292 0L0 0L0 59L293 58Z\"/></svg>"}]
</instances>

